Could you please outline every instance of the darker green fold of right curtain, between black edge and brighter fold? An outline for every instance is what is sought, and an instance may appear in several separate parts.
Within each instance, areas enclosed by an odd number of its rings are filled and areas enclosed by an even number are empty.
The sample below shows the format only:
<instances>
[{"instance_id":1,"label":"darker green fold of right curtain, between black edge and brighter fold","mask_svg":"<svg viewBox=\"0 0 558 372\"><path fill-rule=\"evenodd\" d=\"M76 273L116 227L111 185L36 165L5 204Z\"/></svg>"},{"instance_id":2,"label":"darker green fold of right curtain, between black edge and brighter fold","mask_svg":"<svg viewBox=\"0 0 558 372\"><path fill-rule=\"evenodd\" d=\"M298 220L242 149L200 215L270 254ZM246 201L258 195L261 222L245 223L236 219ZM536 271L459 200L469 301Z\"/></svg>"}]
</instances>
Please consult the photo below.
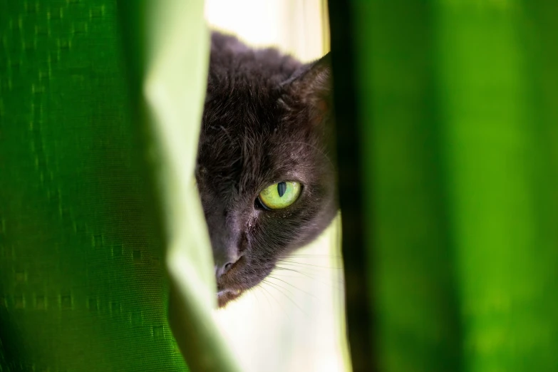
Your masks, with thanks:
<instances>
[{"instance_id":1,"label":"darker green fold of right curtain, between black edge and brighter fold","mask_svg":"<svg viewBox=\"0 0 558 372\"><path fill-rule=\"evenodd\" d=\"M355 1L378 371L460 371L430 5ZM403 26L404 25L404 26ZM366 189L365 189L366 190Z\"/></svg>"}]
</instances>

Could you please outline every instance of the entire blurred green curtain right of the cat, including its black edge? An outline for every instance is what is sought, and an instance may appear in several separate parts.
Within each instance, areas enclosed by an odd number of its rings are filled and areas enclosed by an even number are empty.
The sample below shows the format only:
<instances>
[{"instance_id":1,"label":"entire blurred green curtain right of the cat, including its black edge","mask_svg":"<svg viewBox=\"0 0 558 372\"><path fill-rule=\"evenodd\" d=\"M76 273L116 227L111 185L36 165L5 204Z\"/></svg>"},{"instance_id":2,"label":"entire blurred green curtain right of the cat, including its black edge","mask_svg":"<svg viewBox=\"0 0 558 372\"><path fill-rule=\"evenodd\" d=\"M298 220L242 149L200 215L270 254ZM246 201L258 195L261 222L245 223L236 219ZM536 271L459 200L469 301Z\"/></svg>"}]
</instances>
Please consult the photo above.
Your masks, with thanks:
<instances>
[{"instance_id":1,"label":"entire blurred green curtain right of the cat, including its black edge","mask_svg":"<svg viewBox=\"0 0 558 372\"><path fill-rule=\"evenodd\" d=\"M329 6L354 371L557 371L558 3Z\"/></svg>"}]
</instances>

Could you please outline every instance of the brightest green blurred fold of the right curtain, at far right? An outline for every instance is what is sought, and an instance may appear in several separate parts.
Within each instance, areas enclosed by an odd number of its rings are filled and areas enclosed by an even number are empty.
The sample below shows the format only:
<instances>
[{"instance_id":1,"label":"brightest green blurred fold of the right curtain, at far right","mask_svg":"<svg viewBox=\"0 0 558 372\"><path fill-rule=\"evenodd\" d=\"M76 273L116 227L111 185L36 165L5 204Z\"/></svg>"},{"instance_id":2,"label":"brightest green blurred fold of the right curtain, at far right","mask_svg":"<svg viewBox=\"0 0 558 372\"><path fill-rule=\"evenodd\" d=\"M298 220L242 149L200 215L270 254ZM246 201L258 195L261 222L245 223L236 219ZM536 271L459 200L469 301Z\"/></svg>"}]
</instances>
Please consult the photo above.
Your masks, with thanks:
<instances>
[{"instance_id":1,"label":"brightest green blurred fold of the right curtain, at far right","mask_svg":"<svg viewBox=\"0 0 558 372\"><path fill-rule=\"evenodd\" d=\"M441 4L443 145L467 371L558 368L557 30L543 1ZM529 9L530 8L530 9ZM555 18L554 18L555 19ZM554 39L554 44L549 43Z\"/></svg>"}]
</instances>

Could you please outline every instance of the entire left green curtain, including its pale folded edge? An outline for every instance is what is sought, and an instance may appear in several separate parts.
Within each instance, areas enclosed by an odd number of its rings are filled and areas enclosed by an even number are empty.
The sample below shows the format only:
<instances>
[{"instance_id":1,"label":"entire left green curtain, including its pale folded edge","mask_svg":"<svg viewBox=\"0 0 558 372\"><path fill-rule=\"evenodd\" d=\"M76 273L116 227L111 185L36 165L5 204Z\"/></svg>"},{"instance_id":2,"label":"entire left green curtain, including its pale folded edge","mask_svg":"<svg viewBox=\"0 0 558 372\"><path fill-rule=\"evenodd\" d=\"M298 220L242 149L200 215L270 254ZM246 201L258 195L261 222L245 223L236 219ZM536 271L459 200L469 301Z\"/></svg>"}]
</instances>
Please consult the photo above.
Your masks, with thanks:
<instances>
[{"instance_id":1,"label":"entire left green curtain, including its pale folded edge","mask_svg":"<svg viewBox=\"0 0 558 372\"><path fill-rule=\"evenodd\" d=\"M182 354L192 371L234 371L206 311L201 207L183 187L205 90L202 9L0 0L0 371L188 371ZM166 40L182 41L171 56Z\"/></svg>"}]
</instances>

